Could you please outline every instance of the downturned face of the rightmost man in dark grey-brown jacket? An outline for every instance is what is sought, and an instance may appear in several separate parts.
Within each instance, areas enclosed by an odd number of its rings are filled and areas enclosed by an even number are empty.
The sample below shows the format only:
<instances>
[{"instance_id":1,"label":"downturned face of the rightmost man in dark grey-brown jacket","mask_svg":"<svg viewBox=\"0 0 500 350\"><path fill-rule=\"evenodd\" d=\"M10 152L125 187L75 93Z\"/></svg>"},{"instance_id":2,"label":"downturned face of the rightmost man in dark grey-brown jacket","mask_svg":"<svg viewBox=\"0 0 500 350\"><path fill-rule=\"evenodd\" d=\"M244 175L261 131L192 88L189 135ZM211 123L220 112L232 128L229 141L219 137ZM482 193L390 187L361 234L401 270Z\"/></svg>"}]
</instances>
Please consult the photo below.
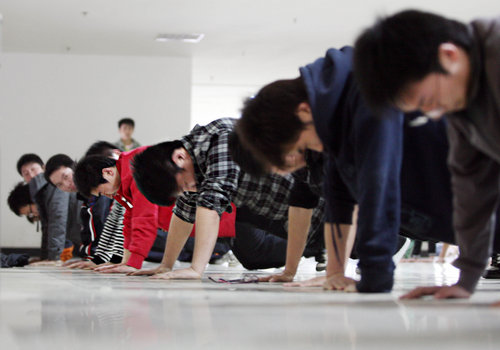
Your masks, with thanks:
<instances>
[{"instance_id":1,"label":"downturned face of the rightmost man in dark grey-brown jacket","mask_svg":"<svg viewBox=\"0 0 500 350\"><path fill-rule=\"evenodd\" d=\"M431 73L405 90L398 103L403 112L420 110L430 119L439 119L466 106L466 84L451 75Z\"/></svg>"}]
</instances>

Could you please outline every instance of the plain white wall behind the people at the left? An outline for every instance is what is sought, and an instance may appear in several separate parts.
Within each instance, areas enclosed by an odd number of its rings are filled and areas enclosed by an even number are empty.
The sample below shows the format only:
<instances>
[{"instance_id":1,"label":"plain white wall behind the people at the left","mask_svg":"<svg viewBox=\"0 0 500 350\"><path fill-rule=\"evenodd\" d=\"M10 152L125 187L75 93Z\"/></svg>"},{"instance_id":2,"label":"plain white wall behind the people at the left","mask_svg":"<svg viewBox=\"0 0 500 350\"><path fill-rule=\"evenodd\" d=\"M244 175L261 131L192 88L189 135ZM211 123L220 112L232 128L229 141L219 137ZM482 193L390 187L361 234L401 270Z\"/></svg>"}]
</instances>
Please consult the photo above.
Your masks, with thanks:
<instances>
[{"instance_id":1,"label":"plain white wall behind the people at the left","mask_svg":"<svg viewBox=\"0 0 500 350\"><path fill-rule=\"evenodd\" d=\"M142 144L190 128L191 59L3 54L0 57L0 246L37 247L40 234L10 212L21 180L17 159L37 153L80 157L96 140L118 139L117 121L136 121Z\"/></svg>"}]
</instances>

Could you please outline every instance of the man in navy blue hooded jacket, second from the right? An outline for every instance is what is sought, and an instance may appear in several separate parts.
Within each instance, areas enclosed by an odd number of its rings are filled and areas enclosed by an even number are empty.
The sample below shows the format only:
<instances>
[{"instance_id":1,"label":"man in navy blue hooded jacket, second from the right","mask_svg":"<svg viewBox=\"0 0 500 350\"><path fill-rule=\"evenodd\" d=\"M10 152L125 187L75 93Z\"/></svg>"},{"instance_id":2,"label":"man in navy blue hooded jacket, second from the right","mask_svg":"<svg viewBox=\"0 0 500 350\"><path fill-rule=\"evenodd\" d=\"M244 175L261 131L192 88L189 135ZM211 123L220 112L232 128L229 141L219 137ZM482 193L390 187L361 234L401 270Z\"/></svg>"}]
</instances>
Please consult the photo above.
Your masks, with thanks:
<instances>
[{"instance_id":1,"label":"man in navy blue hooded jacket, second from the right","mask_svg":"<svg viewBox=\"0 0 500 350\"><path fill-rule=\"evenodd\" d=\"M326 288L354 290L344 277L345 244L359 206L359 292L389 292L400 227L402 115L375 117L352 77L352 48L330 49L300 77L263 87L248 99L236 131L271 171L306 165L306 150L323 152L326 199ZM286 126L286 127L285 127Z\"/></svg>"}]
</instances>

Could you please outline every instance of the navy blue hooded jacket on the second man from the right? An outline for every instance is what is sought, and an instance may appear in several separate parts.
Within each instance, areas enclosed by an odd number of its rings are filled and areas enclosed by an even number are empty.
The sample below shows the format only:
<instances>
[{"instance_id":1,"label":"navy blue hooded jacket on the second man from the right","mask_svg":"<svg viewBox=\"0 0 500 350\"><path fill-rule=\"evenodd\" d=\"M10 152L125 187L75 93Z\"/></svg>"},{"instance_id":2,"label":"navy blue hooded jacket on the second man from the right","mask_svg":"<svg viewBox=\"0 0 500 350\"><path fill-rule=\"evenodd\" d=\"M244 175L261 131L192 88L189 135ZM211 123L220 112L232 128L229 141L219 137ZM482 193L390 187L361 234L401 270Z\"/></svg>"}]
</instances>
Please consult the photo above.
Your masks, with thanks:
<instances>
[{"instance_id":1,"label":"navy blue hooded jacket on the second man from the right","mask_svg":"<svg viewBox=\"0 0 500 350\"><path fill-rule=\"evenodd\" d=\"M352 75L351 47L330 49L300 69L316 131L325 153L326 222L350 224L359 205L359 292L388 292L393 285L400 221L403 116L375 116Z\"/></svg>"}]
</instances>

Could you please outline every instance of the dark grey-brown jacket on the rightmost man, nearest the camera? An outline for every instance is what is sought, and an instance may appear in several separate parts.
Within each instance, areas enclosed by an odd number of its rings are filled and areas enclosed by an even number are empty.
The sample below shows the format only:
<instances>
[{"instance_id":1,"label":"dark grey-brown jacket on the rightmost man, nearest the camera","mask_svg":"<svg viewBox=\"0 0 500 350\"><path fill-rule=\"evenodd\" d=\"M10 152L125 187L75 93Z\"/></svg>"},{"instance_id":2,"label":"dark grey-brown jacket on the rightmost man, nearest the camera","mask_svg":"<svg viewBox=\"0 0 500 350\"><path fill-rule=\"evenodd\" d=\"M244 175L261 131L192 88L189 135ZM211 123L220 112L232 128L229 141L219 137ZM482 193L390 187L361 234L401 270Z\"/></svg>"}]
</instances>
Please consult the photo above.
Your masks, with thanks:
<instances>
[{"instance_id":1,"label":"dark grey-brown jacket on the rightmost man, nearest the camera","mask_svg":"<svg viewBox=\"0 0 500 350\"><path fill-rule=\"evenodd\" d=\"M470 31L468 103L448 118L448 161L460 247L454 265L460 269L458 285L473 292L491 255L500 194L500 18L472 22Z\"/></svg>"}]
</instances>

